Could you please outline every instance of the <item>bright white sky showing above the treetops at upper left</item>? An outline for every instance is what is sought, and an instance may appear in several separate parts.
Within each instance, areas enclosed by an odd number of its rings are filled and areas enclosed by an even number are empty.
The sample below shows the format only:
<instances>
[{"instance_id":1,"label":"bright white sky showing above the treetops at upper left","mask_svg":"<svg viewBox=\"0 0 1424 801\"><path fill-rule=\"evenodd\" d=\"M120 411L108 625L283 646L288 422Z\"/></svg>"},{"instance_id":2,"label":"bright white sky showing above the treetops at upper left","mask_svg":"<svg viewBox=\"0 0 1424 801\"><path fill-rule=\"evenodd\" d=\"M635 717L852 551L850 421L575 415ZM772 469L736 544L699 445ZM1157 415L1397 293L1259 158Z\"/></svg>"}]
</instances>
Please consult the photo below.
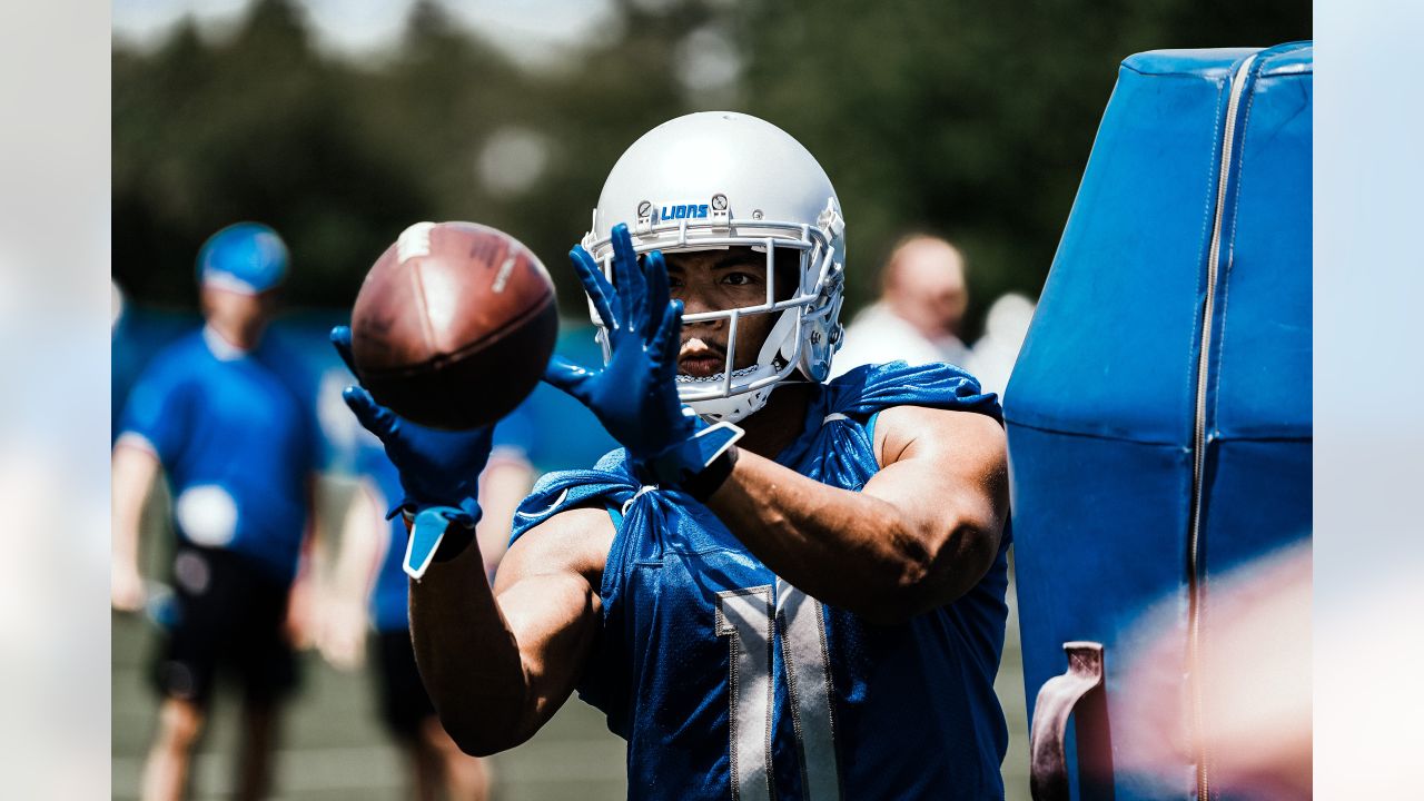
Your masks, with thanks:
<instances>
[{"instance_id":1,"label":"bright white sky showing above the treetops at upper left","mask_svg":"<svg viewBox=\"0 0 1424 801\"><path fill-rule=\"evenodd\" d=\"M299 0L318 41L347 56L365 56L394 46L414 0ZM608 0L443 0L461 24L484 36L527 67L564 61L572 50L608 24ZM191 14L208 31L236 23L249 0L114 0L112 31L138 46L159 43L172 26Z\"/></svg>"}]
</instances>

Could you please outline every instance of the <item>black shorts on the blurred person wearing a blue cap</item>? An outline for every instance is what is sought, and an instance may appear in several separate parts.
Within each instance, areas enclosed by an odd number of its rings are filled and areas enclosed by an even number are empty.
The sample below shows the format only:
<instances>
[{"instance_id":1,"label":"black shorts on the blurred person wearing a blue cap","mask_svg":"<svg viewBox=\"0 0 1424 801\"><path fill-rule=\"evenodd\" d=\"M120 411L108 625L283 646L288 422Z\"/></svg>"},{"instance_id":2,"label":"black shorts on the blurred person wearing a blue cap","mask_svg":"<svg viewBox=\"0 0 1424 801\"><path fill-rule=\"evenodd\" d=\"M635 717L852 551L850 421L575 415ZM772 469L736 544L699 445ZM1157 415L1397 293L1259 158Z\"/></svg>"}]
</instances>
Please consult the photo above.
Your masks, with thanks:
<instances>
[{"instance_id":1,"label":"black shorts on the blurred person wearing a blue cap","mask_svg":"<svg viewBox=\"0 0 1424 801\"><path fill-rule=\"evenodd\" d=\"M249 704L296 687L296 660L282 630L289 584L251 559L188 543L174 553L175 620L159 646L158 691L206 706L219 676Z\"/></svg>"}]
</instances>

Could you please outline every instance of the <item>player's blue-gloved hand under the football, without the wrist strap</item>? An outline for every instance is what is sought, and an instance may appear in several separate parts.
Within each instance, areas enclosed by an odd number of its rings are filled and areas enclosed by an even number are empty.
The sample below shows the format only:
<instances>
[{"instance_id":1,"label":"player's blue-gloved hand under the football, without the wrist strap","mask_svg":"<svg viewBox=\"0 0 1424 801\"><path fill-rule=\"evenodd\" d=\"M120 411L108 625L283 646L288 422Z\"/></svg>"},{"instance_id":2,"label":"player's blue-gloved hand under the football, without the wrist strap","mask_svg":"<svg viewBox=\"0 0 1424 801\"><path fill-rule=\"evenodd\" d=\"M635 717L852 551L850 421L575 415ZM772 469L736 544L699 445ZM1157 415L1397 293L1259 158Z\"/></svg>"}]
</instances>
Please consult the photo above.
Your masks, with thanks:
<instances>
[{"instance_id":1,"label":"player's blue-gloved hand under the football, without the wrist strap","mask_svg":"<svg viewBox=\"0 0 1424 801\"><path fill-rule=\"evenodd\" d=\"M332 329L332 343L347 366L352 331ZM352 366L352 372L356 369ZM356 419L386 446L386 456L400 473L406 490L400 507L417 515L431 507L449 509L447 517L466 526L480 519L480 472L490 460L491 428L436 430L412 423L376 400L360 386L347 386L342 398Z\"/></svg>"}]
</instances>

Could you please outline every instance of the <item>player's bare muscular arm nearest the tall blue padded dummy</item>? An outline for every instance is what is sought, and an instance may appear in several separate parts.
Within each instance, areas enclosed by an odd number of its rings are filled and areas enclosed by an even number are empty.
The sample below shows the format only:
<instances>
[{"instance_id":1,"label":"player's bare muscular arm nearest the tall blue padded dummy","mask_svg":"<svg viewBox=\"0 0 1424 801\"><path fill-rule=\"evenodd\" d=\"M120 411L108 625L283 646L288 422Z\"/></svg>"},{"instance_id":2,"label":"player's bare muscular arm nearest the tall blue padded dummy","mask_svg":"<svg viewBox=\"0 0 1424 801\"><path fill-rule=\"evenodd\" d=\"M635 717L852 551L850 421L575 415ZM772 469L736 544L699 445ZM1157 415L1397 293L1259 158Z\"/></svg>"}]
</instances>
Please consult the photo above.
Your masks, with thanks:
<instances>
[{"instance_id":1,"label":"player's bare muscular arm nearest the tall blue padded dummy","mask_svg":"<svg viewBox=\"0 0 1424 801\"><path fill-rule=\"evenodd\" d=\"M897 621L953 601L994 562L1008 513L1004 432L978 413L897 406L874 435L881 470L862 492L742 449L708 507L812 597Z\"/></svg>"}]
</instances>

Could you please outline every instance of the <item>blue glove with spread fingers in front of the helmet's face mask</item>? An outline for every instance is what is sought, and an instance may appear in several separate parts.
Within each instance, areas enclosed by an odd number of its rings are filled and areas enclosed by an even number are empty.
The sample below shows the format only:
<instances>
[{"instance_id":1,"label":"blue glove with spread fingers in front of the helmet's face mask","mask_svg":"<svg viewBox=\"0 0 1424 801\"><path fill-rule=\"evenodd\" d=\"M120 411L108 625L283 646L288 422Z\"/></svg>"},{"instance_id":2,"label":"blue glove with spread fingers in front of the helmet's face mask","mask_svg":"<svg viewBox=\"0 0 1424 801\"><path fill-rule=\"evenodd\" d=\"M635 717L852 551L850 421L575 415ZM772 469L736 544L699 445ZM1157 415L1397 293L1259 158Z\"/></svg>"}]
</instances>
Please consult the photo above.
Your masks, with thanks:
<instances>
[{"instance_id":1,"label":"blue glove with spread fingers in front of the helmet's face mask","mask_svg":"<svg viewBox=\"0 0 1424 801\"><path fill-rule=\"evenodd\" d=\"M608 363L587 371L555 355L544 381L588 406L628 449L635 467L658 482L681 485L725 453L742 429L708 426L678 398L682 302L669 301L662 254L646 254L639 267L624 224L614 227L612 245L614 285L581 245L568 254L608 326Z\"/></svg>"}]
</instances>

